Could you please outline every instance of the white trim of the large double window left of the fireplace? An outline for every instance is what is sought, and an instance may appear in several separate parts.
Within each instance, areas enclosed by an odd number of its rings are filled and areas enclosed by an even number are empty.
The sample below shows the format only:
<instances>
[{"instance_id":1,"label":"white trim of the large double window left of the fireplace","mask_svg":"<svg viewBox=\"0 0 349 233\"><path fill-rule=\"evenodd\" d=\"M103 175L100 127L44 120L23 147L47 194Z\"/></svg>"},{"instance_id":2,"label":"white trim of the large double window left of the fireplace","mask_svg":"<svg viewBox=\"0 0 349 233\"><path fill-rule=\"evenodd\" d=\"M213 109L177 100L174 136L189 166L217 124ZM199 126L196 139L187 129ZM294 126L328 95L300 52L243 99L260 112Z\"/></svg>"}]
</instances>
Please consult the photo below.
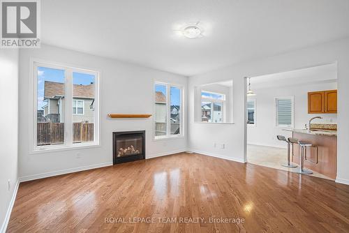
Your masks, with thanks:
<instances>
[{"instance_id":1,"label":"white trim of the large double window left of the fireplace","mask_svg":"<svg viewBox=\"0 0 349 233\"><path fill-rule=\"evenodd\" d=\"M82 144L73 144L73 101L66 101L64 110L66 116L64 117L64 144L59 145L47 145L37 146L37 83L38 83L38 72L37 67L43 66L54 69L69 70L65 72L65 96L67 99L73 99L73 72L87 73L95 75L95 119L94 119L94 142L84 142ZM79 66L72 66L71 64L57 63L52 61L46 61L43 59L36 59L31 57L29 59L29 154L33 153L45 153L48 151L66 151L70 149L84 149L91 148L101 145L101 108L99 103L101 100L99 87L101 84L101 72L96 69L82 68ZM71 86L71 87L70 87ZM71 103L70 103L71 102ZM67 121L68 120L68 121ZM31 127L30 127L31 126Z\"/></svg>"}]
</instances>

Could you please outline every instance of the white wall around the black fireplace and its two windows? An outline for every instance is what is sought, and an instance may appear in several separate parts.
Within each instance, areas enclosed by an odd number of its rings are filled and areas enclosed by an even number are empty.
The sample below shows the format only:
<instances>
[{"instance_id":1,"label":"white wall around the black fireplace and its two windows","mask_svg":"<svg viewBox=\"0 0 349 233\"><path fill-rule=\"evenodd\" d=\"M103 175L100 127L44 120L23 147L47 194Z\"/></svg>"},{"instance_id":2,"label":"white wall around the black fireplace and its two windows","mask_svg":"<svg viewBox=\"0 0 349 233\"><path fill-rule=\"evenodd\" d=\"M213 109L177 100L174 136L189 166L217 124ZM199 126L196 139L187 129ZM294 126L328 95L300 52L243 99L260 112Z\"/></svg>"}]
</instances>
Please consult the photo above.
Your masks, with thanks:
<instances>
[{"instance_id":1,"label":"white wall around the black fireplace and its two windows","mask_svg":"<svg viewBox=\"0 0 349 233\"><path fill-rule=\"evenodd\" d=\"M101 146L59 152L29 153L29 58L66 63L78 68L101 71ZM187 77L135 66L113 59L96 57L58 47L42 45L40 49L20 52L20 177L34 179L46 173L72 171L77 167L112 164L112 132L146 130L146 156L160 156L186 150L186 137L172 140L153 140L153 119L110 119L108 113L153 113L154 82L180 84L186 95ZM186 96L184 97L186 103ZM184 106L186 110L186 106ZM186 116L184 116L186 119ZM186 133L186 121L184 122ZM77 153L80 153L78 155ZM80 157L80 158L79 158Z\"/></svg>"}]
</instances>

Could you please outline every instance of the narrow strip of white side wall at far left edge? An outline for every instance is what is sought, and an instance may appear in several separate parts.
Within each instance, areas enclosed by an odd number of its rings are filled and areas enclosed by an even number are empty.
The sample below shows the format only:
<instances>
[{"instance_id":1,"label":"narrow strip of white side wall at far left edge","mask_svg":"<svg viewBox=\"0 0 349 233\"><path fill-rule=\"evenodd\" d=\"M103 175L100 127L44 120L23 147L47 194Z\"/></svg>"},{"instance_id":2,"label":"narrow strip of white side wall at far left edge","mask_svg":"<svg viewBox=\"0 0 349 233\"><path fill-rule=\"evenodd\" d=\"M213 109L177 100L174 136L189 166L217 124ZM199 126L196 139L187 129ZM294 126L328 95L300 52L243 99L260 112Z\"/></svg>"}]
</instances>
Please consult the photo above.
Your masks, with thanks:
<instances>
[{"instance_id":1,"label":"narrow strip of white side wall at far left edge","mask_svg":"<svg viewBox=\"0 0 349 233\"><path fill-rule=\"evenodd\" d=\"M6 212L17 183L18 59L18 50L0 52L0 232L10 217Z\"/></svg>"}]
</instances>

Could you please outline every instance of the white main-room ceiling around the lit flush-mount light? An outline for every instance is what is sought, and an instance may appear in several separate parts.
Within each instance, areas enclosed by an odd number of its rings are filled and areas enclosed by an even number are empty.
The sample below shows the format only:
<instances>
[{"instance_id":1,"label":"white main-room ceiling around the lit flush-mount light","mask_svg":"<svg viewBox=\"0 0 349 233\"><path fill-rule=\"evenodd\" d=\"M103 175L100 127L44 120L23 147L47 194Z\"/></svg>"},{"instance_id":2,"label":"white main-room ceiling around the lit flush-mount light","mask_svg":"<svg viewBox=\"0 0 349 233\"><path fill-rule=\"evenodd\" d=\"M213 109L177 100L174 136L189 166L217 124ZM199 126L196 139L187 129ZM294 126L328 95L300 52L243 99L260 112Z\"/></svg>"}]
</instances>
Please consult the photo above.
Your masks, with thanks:
<instances>
[{"instance_id":1,"label":"white main-room ceiling around the lit flush-mount light","mask_svg":"<svg viewBox=\"0 0 349 233\"><path fill-rule=\"evenodd\" d=\"M42 43L196 75L349 36L348 0L45 0ZM177 35L200 21L204 37Z\"/></svg>"}]
</instances>

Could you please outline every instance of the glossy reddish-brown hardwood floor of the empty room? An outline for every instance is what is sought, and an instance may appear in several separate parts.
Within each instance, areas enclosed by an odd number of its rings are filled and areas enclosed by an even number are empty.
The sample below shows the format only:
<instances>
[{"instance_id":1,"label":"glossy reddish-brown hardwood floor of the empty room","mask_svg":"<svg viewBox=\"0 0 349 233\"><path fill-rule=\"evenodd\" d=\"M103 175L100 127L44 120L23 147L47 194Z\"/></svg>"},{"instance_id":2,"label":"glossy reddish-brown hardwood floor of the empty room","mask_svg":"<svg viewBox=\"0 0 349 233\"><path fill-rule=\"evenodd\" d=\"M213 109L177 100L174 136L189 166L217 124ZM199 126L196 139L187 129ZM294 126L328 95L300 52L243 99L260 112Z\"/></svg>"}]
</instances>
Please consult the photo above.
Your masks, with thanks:
<instances>
[{"instance_id":1,"label":"glossy reddish-brown hardwood floor of the empty room","mask_svg":"<svg viewBox=\"0 0 349 233\"><path fill-rule=\"evenodd\" d=\"M349 186L179 153L21 183L7 231L349 232Z\"/></svg>"}]
</instances>

